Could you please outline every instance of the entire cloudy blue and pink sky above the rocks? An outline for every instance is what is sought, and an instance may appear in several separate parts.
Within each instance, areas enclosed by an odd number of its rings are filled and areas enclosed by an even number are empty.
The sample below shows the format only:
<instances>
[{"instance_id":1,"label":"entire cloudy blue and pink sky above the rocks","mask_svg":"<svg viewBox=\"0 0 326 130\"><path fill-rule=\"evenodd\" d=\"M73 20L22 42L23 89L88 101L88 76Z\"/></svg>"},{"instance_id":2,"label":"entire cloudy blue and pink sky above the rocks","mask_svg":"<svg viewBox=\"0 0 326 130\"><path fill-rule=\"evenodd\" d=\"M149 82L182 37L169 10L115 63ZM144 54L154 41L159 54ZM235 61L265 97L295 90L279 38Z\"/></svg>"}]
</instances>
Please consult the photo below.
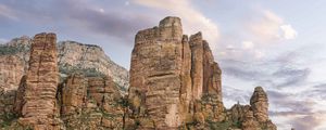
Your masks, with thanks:
<instances>
[{"instance_id":1,"label":"entire cloudy blue and pink sky above the rocks","mask_svg":"<svg viewBox=\"0 0 326 130\"><path fill-rule=\"evenodd\" d=\"M325 0L0 0L0 43L53 31L98 44L129 68L138 30L165 16L184 34L203 34L223 72L226 107L249 104L254 87L269 99L279 130L326 129Z\"/></svg>"}]
</instances>

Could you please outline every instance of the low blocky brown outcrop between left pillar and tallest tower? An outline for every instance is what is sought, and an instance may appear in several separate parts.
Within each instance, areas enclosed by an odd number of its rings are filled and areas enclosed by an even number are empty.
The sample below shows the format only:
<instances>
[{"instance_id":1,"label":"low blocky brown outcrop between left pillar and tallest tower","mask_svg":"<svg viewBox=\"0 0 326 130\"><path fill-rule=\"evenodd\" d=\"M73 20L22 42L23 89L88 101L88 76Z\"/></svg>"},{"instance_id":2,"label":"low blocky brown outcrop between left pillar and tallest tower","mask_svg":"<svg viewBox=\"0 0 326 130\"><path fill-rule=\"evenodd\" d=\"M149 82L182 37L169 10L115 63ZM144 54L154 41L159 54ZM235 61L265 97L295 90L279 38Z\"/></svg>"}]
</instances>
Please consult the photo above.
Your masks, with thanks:
<instances>
[{"instance_id":1,"label":"low blocky brown outcrop between left pillar and tallest tower","mask_svg":"<svg viewBox=\"0 0 326 130\"><path fill-rule=\"evenodd\" d=\"M59 89L66 129L123 129L122 96L110 77L71 75Z\"/></svg>"}]
</instances>

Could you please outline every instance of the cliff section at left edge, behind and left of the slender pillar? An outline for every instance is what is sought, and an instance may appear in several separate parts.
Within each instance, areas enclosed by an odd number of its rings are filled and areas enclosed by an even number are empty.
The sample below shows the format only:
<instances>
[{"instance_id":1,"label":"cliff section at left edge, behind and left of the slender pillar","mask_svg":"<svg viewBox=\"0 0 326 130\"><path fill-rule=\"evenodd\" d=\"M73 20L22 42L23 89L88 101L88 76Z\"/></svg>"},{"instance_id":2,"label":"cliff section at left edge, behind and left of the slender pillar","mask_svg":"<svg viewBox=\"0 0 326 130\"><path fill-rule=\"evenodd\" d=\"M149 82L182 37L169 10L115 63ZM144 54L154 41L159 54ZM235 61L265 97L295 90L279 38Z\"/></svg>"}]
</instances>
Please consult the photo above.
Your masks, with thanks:
<instances>
[{"instance_id":1,"label":"cliff section at left edge, behind and left of the slender pillar","mask_svg":"<svg viewBox=\"0 0 326 130\"><path fill-rule=\"evenodd\" d=\"M0 88L16 90L28 68L32 39L21 37L0 44Z\"/></svg>"}]
</instances>

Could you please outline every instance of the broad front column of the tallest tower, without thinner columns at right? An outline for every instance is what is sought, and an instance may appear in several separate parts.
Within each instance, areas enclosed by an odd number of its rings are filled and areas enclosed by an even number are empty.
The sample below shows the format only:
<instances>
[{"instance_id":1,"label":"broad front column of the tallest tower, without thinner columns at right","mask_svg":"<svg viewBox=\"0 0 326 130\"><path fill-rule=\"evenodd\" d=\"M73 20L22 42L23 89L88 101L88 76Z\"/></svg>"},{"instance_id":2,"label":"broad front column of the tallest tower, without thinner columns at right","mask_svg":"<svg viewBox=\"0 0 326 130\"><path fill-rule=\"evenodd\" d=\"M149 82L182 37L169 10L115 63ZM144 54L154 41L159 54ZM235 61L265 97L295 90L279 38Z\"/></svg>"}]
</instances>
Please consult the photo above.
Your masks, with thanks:
<instances>
[{"instance_id":1,"label":"broad front column of the tallest tower, without thinner columns at right","mask_svg":"<svg viewBox=\"0 0 326 130\"><path fill-rule=\"evenodd\" d=\"M181 123L183 53L183 29L178 17L166 17L159 27L140 30L136 36L129 102L134 113L147 112L150 122L158 129L177 129Z\"/></svg>"}]
</instances>

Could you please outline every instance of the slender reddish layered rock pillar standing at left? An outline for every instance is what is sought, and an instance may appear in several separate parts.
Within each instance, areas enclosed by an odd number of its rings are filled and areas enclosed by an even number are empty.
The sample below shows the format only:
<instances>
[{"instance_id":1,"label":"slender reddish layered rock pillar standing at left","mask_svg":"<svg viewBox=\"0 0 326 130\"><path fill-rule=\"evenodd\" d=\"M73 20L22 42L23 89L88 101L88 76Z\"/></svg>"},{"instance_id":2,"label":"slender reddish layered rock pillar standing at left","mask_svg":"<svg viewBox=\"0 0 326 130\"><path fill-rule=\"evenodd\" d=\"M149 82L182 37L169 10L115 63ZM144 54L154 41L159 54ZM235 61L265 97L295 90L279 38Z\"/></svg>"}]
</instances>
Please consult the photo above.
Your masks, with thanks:
<instances>
[{"instance_id":1,"label":"slender reddish layered rock pillar standing at left","mask_svg":"<svg viewBox=\"0 0 326 130\"><path fill-rule=\"evenodd\" d=\"M55 129L58 82L57 36L38 34L32 44L21 123L34 129Z\"/></svg>"}]
</instances>

